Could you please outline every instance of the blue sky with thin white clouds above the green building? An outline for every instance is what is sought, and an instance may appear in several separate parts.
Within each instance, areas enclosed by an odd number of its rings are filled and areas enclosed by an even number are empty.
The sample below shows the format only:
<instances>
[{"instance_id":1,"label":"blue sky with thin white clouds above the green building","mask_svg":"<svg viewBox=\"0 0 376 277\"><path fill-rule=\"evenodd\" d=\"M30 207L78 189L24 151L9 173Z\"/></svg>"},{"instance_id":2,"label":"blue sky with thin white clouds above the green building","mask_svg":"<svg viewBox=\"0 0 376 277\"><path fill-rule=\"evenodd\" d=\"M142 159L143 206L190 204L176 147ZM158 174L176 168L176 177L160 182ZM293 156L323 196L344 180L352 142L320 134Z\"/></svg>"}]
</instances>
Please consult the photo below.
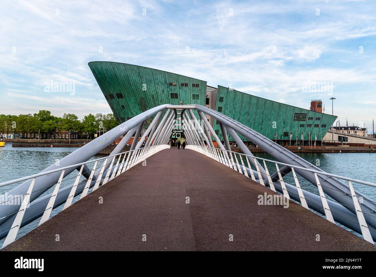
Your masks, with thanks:
<instances>
[{"instance_id":1,"label":"blue sky with thin white clouds above the green building","mask_svg":"<svg viewBox=\"0 0 376 277\"><path fill-rule=\"evenodd\" d=\"M301 108L320 98L326 113L335 97L341 125L369 132L376 117L374 1L9 0L0 17L0 113L110 113L87 64L117 61ZM75 93L46 92L50 80Z\"/></svg>"}]
</instances>

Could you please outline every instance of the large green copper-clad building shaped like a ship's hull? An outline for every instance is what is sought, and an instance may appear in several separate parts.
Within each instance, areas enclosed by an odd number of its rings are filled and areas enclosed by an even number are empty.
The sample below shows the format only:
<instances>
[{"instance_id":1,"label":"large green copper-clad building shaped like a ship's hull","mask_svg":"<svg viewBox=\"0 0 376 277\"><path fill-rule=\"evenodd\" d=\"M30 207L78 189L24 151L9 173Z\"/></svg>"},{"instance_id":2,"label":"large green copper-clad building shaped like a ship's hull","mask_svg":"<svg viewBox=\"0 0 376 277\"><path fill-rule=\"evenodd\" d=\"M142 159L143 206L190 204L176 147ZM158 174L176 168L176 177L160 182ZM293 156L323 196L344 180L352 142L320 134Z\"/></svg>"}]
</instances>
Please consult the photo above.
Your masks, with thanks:
<instances>
[{"instance_id":1,"label":"large green copper-clad building shaped like a ship's hull","mask_svg":"<svg viewBox=\"0 0 376 277\"><path fill-rule=\"evenodd\" d=\"M321 140L337 118L323 114L320 99L311 101L310 110L264 99L175 73L120 62L89 62L118 122L124 122L155 106L199 104L219 111L238 122L284 144L298 140ZM197 116L197 114L196 114ZM146 127L152 119L146 122ZM219 125L209 118L219 135ZM241 137L243 141L247 141ZM232 138L229 137L231 141Z\"/></svg>"}]
</instances>

